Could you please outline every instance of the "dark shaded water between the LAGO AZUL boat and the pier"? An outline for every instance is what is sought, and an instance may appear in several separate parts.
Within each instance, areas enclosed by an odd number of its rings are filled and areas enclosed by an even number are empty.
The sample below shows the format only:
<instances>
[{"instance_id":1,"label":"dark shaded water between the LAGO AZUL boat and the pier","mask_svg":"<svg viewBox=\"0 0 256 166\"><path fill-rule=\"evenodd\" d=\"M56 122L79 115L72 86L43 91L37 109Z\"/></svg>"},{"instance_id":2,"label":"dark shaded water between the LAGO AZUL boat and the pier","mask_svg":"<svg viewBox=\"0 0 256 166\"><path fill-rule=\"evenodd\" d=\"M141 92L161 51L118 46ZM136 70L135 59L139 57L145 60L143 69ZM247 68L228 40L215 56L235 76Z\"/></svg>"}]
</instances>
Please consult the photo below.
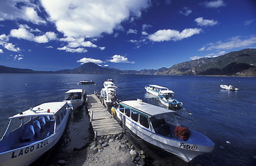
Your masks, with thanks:
<instances>
[{"instance_id":1,"label":"dark shaded water between the LAGO AZUL boat and the pier","mask_svg":"<svg viewBox=\"0 0 256 166\"><path fill-rule=\"evenodd\" d=\"M67 127L58 143L31 166L58 165L58 160L83 165L87 158L86 147L93 139L90 127L86 105L71 111Z\"/></svg>"}]
</instances>

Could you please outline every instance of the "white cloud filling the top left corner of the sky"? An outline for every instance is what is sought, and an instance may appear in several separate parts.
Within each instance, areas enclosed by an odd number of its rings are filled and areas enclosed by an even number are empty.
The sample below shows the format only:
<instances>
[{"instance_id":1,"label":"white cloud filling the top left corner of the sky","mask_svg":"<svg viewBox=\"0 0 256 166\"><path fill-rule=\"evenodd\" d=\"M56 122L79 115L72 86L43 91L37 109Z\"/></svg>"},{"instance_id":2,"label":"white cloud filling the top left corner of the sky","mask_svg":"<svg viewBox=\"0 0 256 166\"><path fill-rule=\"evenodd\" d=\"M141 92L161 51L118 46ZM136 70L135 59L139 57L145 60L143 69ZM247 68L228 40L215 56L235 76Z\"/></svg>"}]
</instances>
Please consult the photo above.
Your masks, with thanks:
<instances>
[{"instance_id":1,"label":"white cloud filling the top left corner of the sky","mask_svg":"<svg viewBox=\"0 0 256 166\"><path fill-rule=\"evenodd\" d=\"M0 18L23 19L33 24L46 24L46 21L37 15L35 4L27 0L1 0Z\"/></svg>"}]
</instances>

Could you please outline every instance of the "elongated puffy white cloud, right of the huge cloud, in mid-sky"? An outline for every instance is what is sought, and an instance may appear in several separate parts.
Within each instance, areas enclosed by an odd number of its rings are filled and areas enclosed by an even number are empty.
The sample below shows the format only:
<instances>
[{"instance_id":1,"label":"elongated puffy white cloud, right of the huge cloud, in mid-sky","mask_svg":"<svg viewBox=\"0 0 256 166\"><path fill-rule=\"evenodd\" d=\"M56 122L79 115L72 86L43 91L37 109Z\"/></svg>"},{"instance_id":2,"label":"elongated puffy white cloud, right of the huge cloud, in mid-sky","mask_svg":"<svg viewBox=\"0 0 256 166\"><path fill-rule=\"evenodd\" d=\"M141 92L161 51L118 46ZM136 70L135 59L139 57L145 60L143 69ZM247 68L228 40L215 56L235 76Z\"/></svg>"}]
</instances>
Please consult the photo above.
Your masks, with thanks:
<instances>
[{"instance_id":1,"label":"elongated puffy white cloud, right of the huge cloud, in mid-sky","mask_svg":"<svg viewBox=\"0 0 256 166\"><path fill-rule=\"evenodd\" d=\"M152 35L148 36L148 39L152 40L153 42L164 42L164 41L178 41L193 35L200 33L201 29L198 28L188 28L179 32L178 30L157 30Z\"/></svg>"}]
</instances>

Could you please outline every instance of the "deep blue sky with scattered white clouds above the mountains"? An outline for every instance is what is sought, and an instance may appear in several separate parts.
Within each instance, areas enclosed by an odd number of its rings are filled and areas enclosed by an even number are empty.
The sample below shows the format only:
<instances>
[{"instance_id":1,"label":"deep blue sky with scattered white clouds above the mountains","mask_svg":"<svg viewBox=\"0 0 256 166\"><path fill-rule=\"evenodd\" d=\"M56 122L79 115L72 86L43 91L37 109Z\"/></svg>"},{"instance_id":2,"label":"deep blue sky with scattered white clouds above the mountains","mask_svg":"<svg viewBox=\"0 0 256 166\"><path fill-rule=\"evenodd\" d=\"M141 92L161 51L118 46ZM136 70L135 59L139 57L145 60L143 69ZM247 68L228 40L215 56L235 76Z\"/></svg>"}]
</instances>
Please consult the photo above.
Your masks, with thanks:
<instances>
[{"instance_id":1,"label":"deep blue sky with scattered white clouds above the mountains","mask_svg":"<svg viewBox=\"0 0 256 166\"><path fill-rule=\"evenodd\" d=\"M256 48L254 0L1 0L0 65L171 67Z\"/></svg>"}]
</instances>

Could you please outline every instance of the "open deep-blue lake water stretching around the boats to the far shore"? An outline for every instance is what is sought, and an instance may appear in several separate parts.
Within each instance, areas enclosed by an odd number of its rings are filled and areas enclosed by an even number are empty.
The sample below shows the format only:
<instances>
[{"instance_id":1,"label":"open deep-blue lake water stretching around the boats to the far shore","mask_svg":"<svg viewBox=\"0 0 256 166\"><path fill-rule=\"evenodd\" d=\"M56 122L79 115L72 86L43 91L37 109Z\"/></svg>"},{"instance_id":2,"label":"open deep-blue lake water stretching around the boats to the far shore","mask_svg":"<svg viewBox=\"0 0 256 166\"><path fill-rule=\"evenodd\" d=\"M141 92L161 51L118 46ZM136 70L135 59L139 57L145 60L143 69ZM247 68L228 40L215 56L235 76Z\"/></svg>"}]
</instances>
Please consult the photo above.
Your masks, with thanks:
<instances>
[{"instance_id":1,"label":"open deep-blue lake water stretching around the boats to the far shore","mask_svg":"<svg viewBox=\"0 0 256 166\"><path fill-rule=\"evenodd\" d=\"M0 133L6 129L6 118L20 110L62 101L69 89L92 94L108 78L119 87L120 100L139 98L162 107L144 86L159 84L175 92L184 105L177 111L180 123L205 133L216 144L212 153L198 156L189 165L256 165L256 77L0 74ZM80 80L94 80L96 86L78 85ZM221 90L219 84L232 84L239 91Z\"/></svg>"}]
</instances>

